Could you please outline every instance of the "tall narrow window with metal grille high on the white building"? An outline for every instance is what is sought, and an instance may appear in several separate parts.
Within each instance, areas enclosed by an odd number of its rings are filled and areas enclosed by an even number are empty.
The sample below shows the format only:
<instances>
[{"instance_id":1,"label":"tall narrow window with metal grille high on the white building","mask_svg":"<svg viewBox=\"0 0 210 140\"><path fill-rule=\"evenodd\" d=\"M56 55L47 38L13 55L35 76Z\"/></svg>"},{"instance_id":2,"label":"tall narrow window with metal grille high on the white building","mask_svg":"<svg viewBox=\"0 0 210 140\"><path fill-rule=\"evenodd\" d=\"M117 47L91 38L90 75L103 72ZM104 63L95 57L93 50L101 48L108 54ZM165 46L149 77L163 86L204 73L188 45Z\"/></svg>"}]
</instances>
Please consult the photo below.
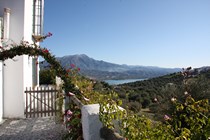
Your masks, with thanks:
<instances>
[{"instance_id":1,"label":"tall narrow window with metal grille high on the white building","mask_svg":"<svg viewBox=\"0 0 210 140\"><path fill-rule=\"evenodd\" d=\"M34 0L33 35L35 36L41 36L43 34L43 15L44 15L44 0Z\"/></svg>"}]
</instances>

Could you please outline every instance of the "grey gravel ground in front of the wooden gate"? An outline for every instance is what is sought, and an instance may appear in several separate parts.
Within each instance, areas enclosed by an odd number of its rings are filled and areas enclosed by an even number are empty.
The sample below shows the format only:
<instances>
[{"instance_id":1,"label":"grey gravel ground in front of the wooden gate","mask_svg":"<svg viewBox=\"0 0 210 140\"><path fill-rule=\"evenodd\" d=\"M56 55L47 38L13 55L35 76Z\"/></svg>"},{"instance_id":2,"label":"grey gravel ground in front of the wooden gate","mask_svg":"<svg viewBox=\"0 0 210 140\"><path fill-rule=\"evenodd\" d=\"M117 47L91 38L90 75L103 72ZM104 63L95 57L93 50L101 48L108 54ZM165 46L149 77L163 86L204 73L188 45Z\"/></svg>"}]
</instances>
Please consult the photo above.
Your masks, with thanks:
<instances>
[{"instance_id":1,"label":"grey gravel ground in front of the wooden gate","mask_svg":"<svg viewBox=\"0 0 210 140\"><path fill-rule=\"evenodd\" d=\"M53 118L8 119L0 124L0 140L61 140L65 128Z\"/></svg>"}]
</instances>

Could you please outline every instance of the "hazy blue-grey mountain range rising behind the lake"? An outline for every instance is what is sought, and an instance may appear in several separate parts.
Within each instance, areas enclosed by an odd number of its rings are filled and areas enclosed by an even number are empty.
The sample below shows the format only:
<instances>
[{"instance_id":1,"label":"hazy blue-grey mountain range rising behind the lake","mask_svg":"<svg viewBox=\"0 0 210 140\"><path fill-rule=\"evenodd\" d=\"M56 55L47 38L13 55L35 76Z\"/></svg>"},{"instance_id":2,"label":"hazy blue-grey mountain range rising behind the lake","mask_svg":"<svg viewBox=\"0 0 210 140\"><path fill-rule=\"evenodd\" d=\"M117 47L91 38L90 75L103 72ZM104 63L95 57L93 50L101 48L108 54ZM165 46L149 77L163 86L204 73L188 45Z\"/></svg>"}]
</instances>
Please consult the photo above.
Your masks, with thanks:
<instances>
[{"instance_id":1,"label":"hazy blue-grey mountain range rising behind the lake","mask_svg":"<svg viewBox=\"0 0 210 140\"><path fill-rule=\"evenodd\" d=\"M81 69L82 74L98 80L152 78L181 71L179 68L113 64L102 60L95 60L85 54L58 57L57 60L66 69L70 68L71 64L74 64ZM40 64L41 69L47 66L48 63L46 61Z\"/></svg>"}]
</instances>

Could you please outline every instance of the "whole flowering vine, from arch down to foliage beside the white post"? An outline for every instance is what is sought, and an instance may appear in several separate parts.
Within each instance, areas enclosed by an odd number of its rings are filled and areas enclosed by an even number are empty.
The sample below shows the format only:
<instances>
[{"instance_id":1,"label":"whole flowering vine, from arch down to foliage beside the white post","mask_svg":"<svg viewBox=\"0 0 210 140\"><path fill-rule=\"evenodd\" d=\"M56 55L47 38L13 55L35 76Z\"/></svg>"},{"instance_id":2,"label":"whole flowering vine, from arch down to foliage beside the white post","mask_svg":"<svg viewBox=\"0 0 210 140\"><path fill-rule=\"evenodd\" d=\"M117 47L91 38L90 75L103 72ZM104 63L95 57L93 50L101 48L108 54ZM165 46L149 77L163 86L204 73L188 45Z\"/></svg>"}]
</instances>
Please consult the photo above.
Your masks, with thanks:
<instances>
[{"instance_id":1,"label":"whole flowering vine, from arch down to foliage beside the white post","mask_svg":"<svg viewBox=\"0 0 210 140\"><path fill-rule=\"evenodd\" d=\"M92 81L86 80L77 75L80 70L79 68L76 68L74 64L71 64L70 69L65 69L47 48L42 48L36 44L37 42L43 41L50 36L52 36L52 34L48 33L45 36L34 38L34 43L29 43L28 41L21 41L20 44L2 43L3 46L0 46L0 60L4 63L7 59L14 60L16 56L28 55L34 58L41 56L49 63L50 68L54 70L55 75L60 77L63 81L59 91L60 94L57 97L57 103L60 114L59 117L61 117L61 120L64 121L66 128L69 131L65 138L68 139L68 137L71 137L75 139L81 136L81 111L77 105L69 102L65 105L66 110L63 112L63 99L67 99L68 101L70 96L76 95L81 101L87 103L90 101L90 98L96 97L97 94L95 93L95 95L92 96L91 92L89 92L93 86ZM39 62L37 62L37 64L38 63ZM87 94L84 95L83 93Z\"/></svg>"}]
</instances>

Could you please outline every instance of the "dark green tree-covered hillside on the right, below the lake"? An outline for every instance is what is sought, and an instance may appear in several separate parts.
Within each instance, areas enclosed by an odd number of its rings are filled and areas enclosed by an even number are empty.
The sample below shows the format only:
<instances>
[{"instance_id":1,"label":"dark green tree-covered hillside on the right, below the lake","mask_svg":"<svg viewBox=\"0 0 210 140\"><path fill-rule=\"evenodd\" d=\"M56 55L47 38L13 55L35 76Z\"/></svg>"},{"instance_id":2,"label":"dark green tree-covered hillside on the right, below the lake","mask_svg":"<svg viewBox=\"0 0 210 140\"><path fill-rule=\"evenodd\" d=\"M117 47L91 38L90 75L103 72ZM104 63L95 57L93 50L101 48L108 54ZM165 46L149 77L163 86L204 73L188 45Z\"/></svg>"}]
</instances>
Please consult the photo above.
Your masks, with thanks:
<instances>
[{"instance_id":1,"label":"dark green tree-covered hillside on the right, below the lake","mask_svg":"<svg viewBox=\"0 0 210 140\"><path fill-rule=\"evenodd\" d=\"M210 100L210 67L190 70L187 79L187 91L195 100ZM149 80L137 81L114 86L115 91L123 100L123 104L131 110L150 108L156 116L169 112L171 98L182 101L186 87L183 85L181 73L173 73ZM155 102L156 99L158 102ZM161 104L161 106L160 106Z\"/></svg>"}]
</instances>

